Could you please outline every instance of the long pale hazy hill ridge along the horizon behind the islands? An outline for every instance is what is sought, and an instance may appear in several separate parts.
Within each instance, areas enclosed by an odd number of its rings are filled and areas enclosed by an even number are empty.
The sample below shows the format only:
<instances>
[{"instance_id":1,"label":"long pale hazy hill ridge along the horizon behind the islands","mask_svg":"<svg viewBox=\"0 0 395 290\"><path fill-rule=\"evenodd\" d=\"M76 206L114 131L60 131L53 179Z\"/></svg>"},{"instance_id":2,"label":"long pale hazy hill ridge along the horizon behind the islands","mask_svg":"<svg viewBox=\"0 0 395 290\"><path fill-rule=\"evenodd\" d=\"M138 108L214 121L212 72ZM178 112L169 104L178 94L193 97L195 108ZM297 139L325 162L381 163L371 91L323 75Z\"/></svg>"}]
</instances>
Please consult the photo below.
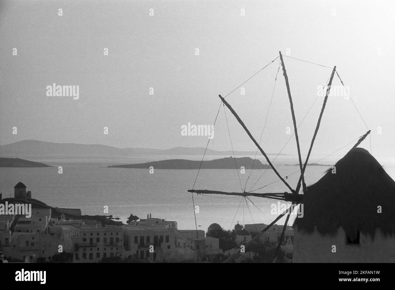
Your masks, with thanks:
<instances>
[{"instance_id":1,"label":"long pale hazy hill ridge along the horizon behind the islands","mask_svg":"<svg viewBox=\"0 0 395 290\"><path fill-rule=\"evenodd\" d=\"M0 156L26 159L94 159L130 158L140 156L203 155L205 148L175 147L171 149L117 148L99 144L52 143L23 140L0 146ZM216 151L207 149L205 155L255 155L256 151ZM269 153L267 155L277 155ZM280 154L286 155L286 154Z\"/></svg>"}]
</instances>

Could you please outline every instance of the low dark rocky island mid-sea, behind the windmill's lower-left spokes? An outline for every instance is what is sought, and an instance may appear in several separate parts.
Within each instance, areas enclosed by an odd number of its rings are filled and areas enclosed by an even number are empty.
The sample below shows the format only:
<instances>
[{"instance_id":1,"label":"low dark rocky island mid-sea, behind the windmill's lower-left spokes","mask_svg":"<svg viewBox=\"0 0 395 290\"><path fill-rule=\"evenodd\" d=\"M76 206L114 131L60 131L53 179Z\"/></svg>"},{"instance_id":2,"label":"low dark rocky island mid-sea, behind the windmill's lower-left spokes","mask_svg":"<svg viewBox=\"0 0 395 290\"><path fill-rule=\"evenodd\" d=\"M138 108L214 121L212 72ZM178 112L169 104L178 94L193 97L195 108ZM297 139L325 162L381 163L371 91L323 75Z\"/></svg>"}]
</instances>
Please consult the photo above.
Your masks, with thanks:
<instances>
[{"instance_id":1,"label":"low dark rocky island mid-sea, behind the windmill's lower-left spokes","mask_svg":"<svg viewBox=\"0 0 395 290\"><path fill-rule=\"evenodd\" d=\"M236 160L236 164L235 164ZM154 167L154 169L199 169L201 161L193 161L186 159L170 159L170 160L162 160L162 161L153 161L147 163L138 163L138 164L122 164L122 165L111 165L109 168L149 168ZM250 158L250 157L241 157L241 158L233 158L233 157L225 157L221 159L214 159L209 161L203 161L201 163L202 169L235 169L244 166L245 169L251 169L252 164L254 163L255 169L267 169L271 168L267 164L262 164L258 159Z\"/></svg>"}]
</instances>

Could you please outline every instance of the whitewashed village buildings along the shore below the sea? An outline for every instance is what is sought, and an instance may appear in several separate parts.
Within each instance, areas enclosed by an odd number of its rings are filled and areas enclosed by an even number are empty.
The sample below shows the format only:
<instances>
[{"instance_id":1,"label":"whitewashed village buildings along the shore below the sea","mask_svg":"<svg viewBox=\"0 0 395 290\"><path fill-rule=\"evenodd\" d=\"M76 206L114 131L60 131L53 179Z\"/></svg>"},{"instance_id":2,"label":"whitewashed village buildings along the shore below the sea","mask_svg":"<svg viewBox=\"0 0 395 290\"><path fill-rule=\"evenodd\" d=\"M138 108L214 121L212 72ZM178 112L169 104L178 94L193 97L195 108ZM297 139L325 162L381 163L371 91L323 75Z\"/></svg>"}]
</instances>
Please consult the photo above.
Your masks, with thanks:
<instances>
[{"instance_id":1,"label":"whitewashed village buildings along the shore below the sea","mask_svg":"<svg viewBox=\"0 0 395 290\"><path fill-rule=\"evenodd\" d=\"M267 226L237 223L226 231L213 223L205 233L179 230L177 221L152 217L151 213L146 219L130 219L124 225L84 216L80 209L48 206L32 198L22 182L15 185L13 198L0 200L1 205L6 203L31 206L31 215L0 213L2 262L223 262ZM282 227L273 226L236 262L269 262L264 253L273 254L281 231ZM230 238L225 239L226 235ZM292 227L288 227L282 247L284 262L291 262Z\"/></svg>"}]
</instances>

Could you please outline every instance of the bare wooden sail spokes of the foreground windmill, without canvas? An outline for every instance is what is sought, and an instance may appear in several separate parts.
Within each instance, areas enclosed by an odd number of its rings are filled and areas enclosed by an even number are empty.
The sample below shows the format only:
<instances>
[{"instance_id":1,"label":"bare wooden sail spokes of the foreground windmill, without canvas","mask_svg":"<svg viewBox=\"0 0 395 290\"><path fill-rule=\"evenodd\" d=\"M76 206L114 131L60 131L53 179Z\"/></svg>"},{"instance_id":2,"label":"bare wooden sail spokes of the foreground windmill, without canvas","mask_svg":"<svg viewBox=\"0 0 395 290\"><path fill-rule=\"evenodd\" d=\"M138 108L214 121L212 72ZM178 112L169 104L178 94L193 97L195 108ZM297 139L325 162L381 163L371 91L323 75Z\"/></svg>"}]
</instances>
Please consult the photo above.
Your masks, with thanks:
<instances>
[{"instance_id":1,"label":"bare wooden sail spokes of the foreground windmill, without canvas","mask_svg":"<svg viewBox=\"0 0 395 290\"><path fill-rule=\"evenodd\" d=\"M284 185L286 185L286 187L288 187L290 192L284 192L284 193L252 193L252 192L246 192L245 190L241 193L236 193L236 192L224 192L224 191L212 191L212 190L202 190L202 189L194 189L194 186L192 187L192 189L188 190L188 192L192 193L192 202L194 202L194 197L193 197L193 193L197 193L197 194L216 194L216 195L235 195L235 196L243 196L244 198L248 198L248 196L256 196L256 197L261 197L261 198L269 198L269 199L274 199L274 200L283 200L286 202L291 202L291 206L283 211L282 213L280 213L280 215L278 215L278 217L276 217L276 219L274 221L272 221L268 226L266 226L261 232L259 232L254 238L252 238L250 241L248 241L248 243L245 244L245 249L248 249L248 247L254 242L256 241L262 234L264 234L269 228L271 228L271 226L273 226L279 219L281 219L284 215L286 216L286 221L284 223L284 227L282 229L282 233L280 236L280 239L278 241L278 245L277 245L277 249L276 249L276 254L274 257L273 262L276 261L277 255L278 255L278 251L280 249L281 243L284 239L284 233L287 227L287 223L288 220L290 218L290 215L292 213L292 209L295 208L298 204L301 203L301 200L303 198L303 194L307 193L307 187L306 187L306 183L305 183L305 177L304 177L304 173L307 167L307 163L308 163L308 159L310 157L310 153L311 150L313 148L314 145L314 140L316 138L316 135L318 133L318 129L320 128L320 123L321 123L321 119L322 119L322 115L324 114L324 110L325 110L325 105L327 103L327 99L331 90L331 86L332 86L332 80L333 77L335 75L335 72L337 74L337 76L340 79L339 74L336 71L336 66L333 67L332 69L332 73L330 75L329 78L329 82L327 85L327 90L326 90L326 94L324 97L324 103L322 104L322 109L320 112L320 116L318 117L318 121L316 124L316 128L314 131L314 135L312 137L311 143L310 143L310 148L308 150L307 153L307 157L305 160L305 163L302 162L302 158L301 158L301 151L300 151L300 146L299 146L299 136L297 133L297 125L296 125L296 118L295 118L295 112L293 110L293 102L292 102L292 95L291 95L291 90L290 90L290 85L288 82L288 75L286 72L286 68L285 68L285 64L284 64L284 60L283 60L283 56L281 54L281 51L279 52L279 56L277 58L280 58L280 62L281 62L281 66L282 66L282 71L283 71L283 75L284 75L284 79L285 79L285 84L286 84L286 88L287 88L287 93L288 93L288 98L290 101L290 109L291 109L291 114L292 114L292 120L293 120L293 128L294 128L294 134L295 134L295 139L296 139L296 145L297 145L297 152L298 152L298 159L299 159L299 168L300 168L300 177L299 177L299 181L296 184L296 187L293 188L290 184L288 184L288 182L278 173L278 171L276 170L276 168L274 167L274 165L272 164L272 162L270 161L269 157L267 156L267 154L264 152L264 150L261 148L260 144L256 141L256 139L252 136L252 134L250 133L250 131L248 130L248 128L246 127L246 125L243 123L243 121L241 120L241 118L238 116L238 114L235 112L235 110L231 107L231 105L229 105L229 103L225 100L225 97L222 97L221 95L219 95L220 99L221 99L221 105L225 105L229 111L233 114L233 116L236 118L236 120L240 123L240 125L243 127L243 129L246 131L248 137L250 137L250 139L252 140L252 142L254 142L254 144L256 145L256 147L258 148L258 150L262 153L262 155L265 157L267 163L269 164L269 166L273 169L273 172L275 172L275 174L278 176L278 178L284 183ZM277 58L275 58L272 62L274 62ZM270 64L270 63L269 63ZM267 65L266 65L267 66ZM265 67L266 67L265 66ZM263 68L265 68L263 67ZM342 85L344 86L342 80L340 79ZM234 91L234 90L233 90ZM232 92L233 92L232 91ZM228 94L229 95L229 94ZM354 104L354 102L353 102ZM354 104L355 106L355 104ZM356 108L356 107L355 107ZM218 110L219 112L219 110ZM218 116L218 113L217 113ZM362 117L361 117L362 118ZM362 119L363 120L363 119ZM365 123L366 125L366 123ZM366 126L367 127L367 126ZM362 135L359 140L357 141L357 143L354 145L353 148L357 147L366 137L367 135L369 135L371 131L368 128L368 131ZM209 143L207 142L207 145ZM207 146L206 146L207 149ZM204 155L203 155L204 158ZM203 159L202 159L203 162ZM199 168L200 170L200 168ZM199 174L199 170L198 170L198 174ZM196 176L197 178L197 176ZM303 189L303 193L299 193L300 188L302 187ZM195 215L195 221L196 221L196 215ZM241 253L241 249L239 249L235 254L229 256L228 259L226 259L224 262L231 262L232 260L234 260L235 258L237 258L237 256Z\"/></svg>"}]
</instances>

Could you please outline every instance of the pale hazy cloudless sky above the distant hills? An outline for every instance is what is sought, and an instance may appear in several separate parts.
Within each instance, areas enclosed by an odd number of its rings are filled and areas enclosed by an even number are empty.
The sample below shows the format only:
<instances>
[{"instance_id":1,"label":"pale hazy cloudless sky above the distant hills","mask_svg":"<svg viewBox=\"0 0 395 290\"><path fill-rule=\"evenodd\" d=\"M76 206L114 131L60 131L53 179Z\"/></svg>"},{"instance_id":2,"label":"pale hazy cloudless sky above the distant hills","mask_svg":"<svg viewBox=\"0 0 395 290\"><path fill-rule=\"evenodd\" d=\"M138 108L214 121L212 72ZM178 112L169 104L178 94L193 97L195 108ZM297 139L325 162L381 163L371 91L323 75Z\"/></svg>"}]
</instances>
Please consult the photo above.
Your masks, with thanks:
<instances>
[{"instance_id":1,"label":"pale hazy cloudless sky above the distant hills","mask_svg":"<svg viewBox=\"0 0 395 290\"><path fill-rule=\"evenodd\" d=\"M35 139L204 147L207 137L182 136L181 126L213 125L218 94L227 95L282 51L337 65L372 130L373 154L394 155L394 8L393 1L377 0L1 1L0 144ZM299 123L331 69L285 56L284 62ZM275 60L246 82L245 95L237 89L226 98L258 140L279 64ZM48 97L46 87L54 82L78 85L79 99ZM336 76L333 85L340 85ZM322 101L319 97L299 127L304 154ZM255 150L228 109L226 116L234 149ZM280 69L264 150L278 152L290 138L287 127L293 133ZM231 150L223 108L214 128L209 148ZM350 99L330 97L313 154L332 153L366 131ZM283 153L297 152L294 140ZM363 147L370 149L369 138Z\"/></svg>"}]
</instances>

